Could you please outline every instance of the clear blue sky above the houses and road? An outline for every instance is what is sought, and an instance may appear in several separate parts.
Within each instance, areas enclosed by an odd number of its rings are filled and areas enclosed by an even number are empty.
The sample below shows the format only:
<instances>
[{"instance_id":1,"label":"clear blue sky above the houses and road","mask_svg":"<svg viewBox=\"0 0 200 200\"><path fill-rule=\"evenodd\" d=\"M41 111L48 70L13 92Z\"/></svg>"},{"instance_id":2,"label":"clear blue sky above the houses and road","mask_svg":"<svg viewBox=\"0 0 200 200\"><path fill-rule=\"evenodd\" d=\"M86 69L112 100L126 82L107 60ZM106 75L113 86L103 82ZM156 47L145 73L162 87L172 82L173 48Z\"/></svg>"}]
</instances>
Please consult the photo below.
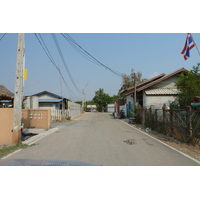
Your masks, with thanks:
<instances>
[{"instance_id":1,"label":"clear blue sky above the houses and road","mask_svg":"<svg viewBox=\"0 0 200 200\"><path fill-rule=\"evenodd\" d=\"M76 90L64 67L62 59L50 33L41 34L55 62L58 62L62 74L71 88L69 93L62 82L63 96L74 101L82 99L85 88L86 100L94 97L95 91L103 88L110 96L118 93L121 78L109 70L95 65L80 55L62 37L56 34L71 76L78 87ZM160 73L171 73L179 68L190 70L200 61L196 48L191 50L191 57L185 61L180 54L186 33L76 33L69 34L79 45L104 65L129 75L131 69L140 71L144 78L151 78ZM0 34L0 38L3 33ZM0 41L0 84L14 91L16 52L18 34L7 34ZM200 47L200 34L193 34ZM59 74L34 34L25 34L26 68L28 79L25 81L25 95L47 90L61 94Z\"/></svg>"}]
</instances>

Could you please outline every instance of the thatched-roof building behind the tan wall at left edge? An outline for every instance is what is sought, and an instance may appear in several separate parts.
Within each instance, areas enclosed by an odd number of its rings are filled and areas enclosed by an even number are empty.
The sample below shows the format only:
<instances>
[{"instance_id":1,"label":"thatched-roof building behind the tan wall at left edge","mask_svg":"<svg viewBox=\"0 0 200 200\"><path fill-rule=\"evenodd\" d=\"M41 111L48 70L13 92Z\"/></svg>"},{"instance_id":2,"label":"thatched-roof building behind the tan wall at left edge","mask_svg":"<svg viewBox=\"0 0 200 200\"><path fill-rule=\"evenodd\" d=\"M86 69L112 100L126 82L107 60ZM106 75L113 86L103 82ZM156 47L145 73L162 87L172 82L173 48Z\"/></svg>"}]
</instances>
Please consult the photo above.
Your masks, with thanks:
<instances>
[{"instance_id":1,"label":"thatched-roof building behind the tan wall at left edge","mask_svg":"<svg viewBox=\"0 0 200 200\"><path fill-rule=\"evenodd\" d=\"M0 108L12 107L14 94L10 92L4 85L0 85Z\"/></svg>"}]
</instances>

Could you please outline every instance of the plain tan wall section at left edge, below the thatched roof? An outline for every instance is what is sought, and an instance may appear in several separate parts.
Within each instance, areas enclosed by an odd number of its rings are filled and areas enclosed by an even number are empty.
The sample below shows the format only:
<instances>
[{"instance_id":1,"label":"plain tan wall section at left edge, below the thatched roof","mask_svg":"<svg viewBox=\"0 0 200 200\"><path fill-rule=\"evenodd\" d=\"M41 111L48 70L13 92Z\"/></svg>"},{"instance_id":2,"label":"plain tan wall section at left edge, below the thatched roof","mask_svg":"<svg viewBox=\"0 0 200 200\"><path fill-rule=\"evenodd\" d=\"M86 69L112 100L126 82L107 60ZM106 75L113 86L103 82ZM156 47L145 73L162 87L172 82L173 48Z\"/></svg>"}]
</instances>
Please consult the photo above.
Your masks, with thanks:
<instances>
[{"instance_id":1,"label":"plain tan wall section at left edge, below the thatched roof","mask_svg":"<svg viewBox=\"0 0 200 200\"><path fill-rule=\"evenodd\" d=\"M0 108L0 145L19 143L21 132L12 132L13 108Z\"/></svg>"}]
</instances>

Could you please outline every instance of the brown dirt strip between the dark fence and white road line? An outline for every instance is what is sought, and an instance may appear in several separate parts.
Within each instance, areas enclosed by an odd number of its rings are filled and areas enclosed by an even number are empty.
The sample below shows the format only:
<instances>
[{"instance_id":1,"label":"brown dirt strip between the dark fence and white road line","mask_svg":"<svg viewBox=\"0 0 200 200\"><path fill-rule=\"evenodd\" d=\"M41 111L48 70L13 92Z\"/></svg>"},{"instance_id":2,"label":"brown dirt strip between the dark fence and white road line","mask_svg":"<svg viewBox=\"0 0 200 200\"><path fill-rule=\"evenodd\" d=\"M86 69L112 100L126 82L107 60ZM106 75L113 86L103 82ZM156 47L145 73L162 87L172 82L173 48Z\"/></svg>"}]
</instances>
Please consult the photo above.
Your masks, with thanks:
<instances>
[{"instance_id":1,"label":"brown dirt strip between the dark fence and white road line","mask_svg":"<svg viewBox=\"0 0 200 200\"><path fill-rule=\"evenodd\" d=\"M137 128L139 130L144 131L145 133L151 135L152 137L155 137L155 138L161 140L162 142L170 145L171 147L200 161L200 145L195 145L195 146L189 145L189 144L177 141L174 138L169 137L167 135L158 133L156 131L146 131L146 129L140 124L134 124L132 126L134 126L135 128Z\"/></svg>"}]
</instances>

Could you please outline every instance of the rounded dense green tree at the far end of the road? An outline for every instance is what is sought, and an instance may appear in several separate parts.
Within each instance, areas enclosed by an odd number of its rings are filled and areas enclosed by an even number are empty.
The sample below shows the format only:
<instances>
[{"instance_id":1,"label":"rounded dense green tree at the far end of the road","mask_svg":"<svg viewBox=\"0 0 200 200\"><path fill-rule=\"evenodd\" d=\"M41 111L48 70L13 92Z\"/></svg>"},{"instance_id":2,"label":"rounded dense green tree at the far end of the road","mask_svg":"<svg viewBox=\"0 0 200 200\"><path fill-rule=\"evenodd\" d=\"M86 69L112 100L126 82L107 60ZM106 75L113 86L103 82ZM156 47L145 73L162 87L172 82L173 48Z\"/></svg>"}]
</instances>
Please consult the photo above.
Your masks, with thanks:
<instances>
[{"instance_id":1,"label":"rounded dense green tree at the far end of the road","mask_svg":"<svg viewBox=\"0 0 200 200\"><path fill-rule=\"evenodd\" d=\"M106 109L106 105L108 103L113 103L113 98L109 96L109 94L104 93L104 90L100 88L95 92L95 96L93 98L95 105L97 106L97 111L104 111Z\"/></svg>"}]
</instances>

